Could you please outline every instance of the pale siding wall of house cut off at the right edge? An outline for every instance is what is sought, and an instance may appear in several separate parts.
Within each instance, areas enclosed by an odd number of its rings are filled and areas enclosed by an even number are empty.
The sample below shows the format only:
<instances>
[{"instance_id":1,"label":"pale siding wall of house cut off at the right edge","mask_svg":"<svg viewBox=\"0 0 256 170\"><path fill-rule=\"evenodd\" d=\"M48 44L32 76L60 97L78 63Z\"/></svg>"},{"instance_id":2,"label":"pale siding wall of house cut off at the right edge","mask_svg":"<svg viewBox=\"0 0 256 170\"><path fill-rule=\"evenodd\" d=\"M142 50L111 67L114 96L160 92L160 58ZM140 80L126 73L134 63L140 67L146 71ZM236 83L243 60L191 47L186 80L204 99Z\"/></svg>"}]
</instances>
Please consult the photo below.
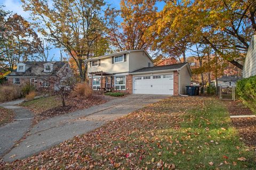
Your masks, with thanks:
<instances>
[{"instance_id":1,"label":"pale siding wall of house cut off at the right edge","mask_svg":"<svg viewBox=\"0 0 256 170\"><path fill-rule=\"evenodd\" d=\"M243 78L256 75L256 35L252 36L243 67Z\"/></svg>"}]
</instances>

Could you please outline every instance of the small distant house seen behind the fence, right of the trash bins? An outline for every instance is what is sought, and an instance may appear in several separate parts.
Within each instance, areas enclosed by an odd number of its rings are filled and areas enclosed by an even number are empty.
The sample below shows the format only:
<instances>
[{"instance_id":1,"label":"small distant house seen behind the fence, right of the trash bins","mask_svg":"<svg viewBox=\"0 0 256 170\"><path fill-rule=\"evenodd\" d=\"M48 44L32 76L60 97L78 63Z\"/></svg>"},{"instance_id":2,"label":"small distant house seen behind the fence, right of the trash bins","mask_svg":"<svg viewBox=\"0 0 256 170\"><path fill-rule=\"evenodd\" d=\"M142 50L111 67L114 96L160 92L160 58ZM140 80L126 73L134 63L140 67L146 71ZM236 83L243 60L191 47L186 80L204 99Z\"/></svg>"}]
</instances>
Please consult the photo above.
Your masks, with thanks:
<instances>
[{"instance_id":1,"label":"small distant house seen behind the fence, right of the trash bins","mask_svg":"<svg viewBox=\"0 0 256 170\"><path fill-rule=\"evenodd\" d=\"M218 79L218 86L234 86L236 87L236 82L240 80L241 77L237 77L235 75L223 75L221 78ZM214 86L216 86L216 81L211 81Z\"/></svg>"}]
</instances>

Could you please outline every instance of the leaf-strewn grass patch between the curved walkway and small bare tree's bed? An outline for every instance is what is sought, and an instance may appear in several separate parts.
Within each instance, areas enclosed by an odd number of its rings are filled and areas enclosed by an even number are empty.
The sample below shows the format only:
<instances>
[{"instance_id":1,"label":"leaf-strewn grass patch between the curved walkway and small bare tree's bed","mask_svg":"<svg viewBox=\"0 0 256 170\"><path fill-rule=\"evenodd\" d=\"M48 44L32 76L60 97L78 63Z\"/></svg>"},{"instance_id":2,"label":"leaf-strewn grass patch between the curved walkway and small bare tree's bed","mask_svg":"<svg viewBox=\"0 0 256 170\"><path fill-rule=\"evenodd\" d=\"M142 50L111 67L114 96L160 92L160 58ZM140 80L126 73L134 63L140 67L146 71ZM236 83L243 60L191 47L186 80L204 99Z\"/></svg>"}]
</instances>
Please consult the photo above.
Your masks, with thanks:
<instances>
[{"instance_id":1,"label":"leaf-strewn grass patch between the curved walkway and small bare tree's bed","mask_svg":"<svg viewBox=\"0 0 256 170\"><path fill-rule=\"evenodd\" d=\"M31 109L34 113L41 113L47 111L48 109L61 106L61 100L58 96L50 96L25 101L20 105Z\"/></svg>"}]
</instances>

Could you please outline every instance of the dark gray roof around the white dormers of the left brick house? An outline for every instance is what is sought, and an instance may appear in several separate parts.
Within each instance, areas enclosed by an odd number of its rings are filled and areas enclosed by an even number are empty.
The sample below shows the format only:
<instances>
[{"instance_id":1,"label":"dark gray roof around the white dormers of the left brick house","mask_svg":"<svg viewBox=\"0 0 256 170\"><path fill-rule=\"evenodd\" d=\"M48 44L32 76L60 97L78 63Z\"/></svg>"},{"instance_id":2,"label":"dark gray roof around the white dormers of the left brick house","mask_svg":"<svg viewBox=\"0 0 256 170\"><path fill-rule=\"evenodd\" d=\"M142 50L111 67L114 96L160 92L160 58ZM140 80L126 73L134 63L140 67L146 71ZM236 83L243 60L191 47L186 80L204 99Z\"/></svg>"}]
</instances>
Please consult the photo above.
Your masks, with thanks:
<instances>
[{"instance_id":1,"label":"dark gray roof around the white dormers of the left brick house","mask_svg":"<svg viewBox=\"0 0 256 170\"><path fill-rule=\"evenodd\" d=\"M44 72L44 64L45 63L53 64L52 72ZM54 75L66 63L65 62L25 62L24 64L29 66L29 68L25 72L17 72L17 70L14 70L6 76L49 76L49 75Z\"/></svg>"}]
</instances>

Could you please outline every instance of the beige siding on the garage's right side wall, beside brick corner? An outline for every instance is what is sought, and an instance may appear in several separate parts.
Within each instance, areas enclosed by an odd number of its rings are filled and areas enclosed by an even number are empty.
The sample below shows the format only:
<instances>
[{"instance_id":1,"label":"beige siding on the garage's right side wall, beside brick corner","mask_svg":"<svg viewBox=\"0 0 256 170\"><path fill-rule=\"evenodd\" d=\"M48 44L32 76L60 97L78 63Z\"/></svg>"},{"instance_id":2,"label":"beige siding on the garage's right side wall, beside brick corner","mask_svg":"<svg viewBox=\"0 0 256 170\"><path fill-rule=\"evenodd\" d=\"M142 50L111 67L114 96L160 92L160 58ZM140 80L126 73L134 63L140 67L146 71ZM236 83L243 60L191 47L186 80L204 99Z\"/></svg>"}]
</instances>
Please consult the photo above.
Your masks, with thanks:
<instances>
[{"instance_id":1,"label":"beige siding on the garage's right side wall, beside brick corner","mask_svg":"<svg viewBox=\"0 0 256 170\"><path fill-rule=\"evenodd\" d=\"M186 86L190 86L190 74L187 66L183 66L179 71L179 93L186 94Z\"/></svg>"}]
</instances>

